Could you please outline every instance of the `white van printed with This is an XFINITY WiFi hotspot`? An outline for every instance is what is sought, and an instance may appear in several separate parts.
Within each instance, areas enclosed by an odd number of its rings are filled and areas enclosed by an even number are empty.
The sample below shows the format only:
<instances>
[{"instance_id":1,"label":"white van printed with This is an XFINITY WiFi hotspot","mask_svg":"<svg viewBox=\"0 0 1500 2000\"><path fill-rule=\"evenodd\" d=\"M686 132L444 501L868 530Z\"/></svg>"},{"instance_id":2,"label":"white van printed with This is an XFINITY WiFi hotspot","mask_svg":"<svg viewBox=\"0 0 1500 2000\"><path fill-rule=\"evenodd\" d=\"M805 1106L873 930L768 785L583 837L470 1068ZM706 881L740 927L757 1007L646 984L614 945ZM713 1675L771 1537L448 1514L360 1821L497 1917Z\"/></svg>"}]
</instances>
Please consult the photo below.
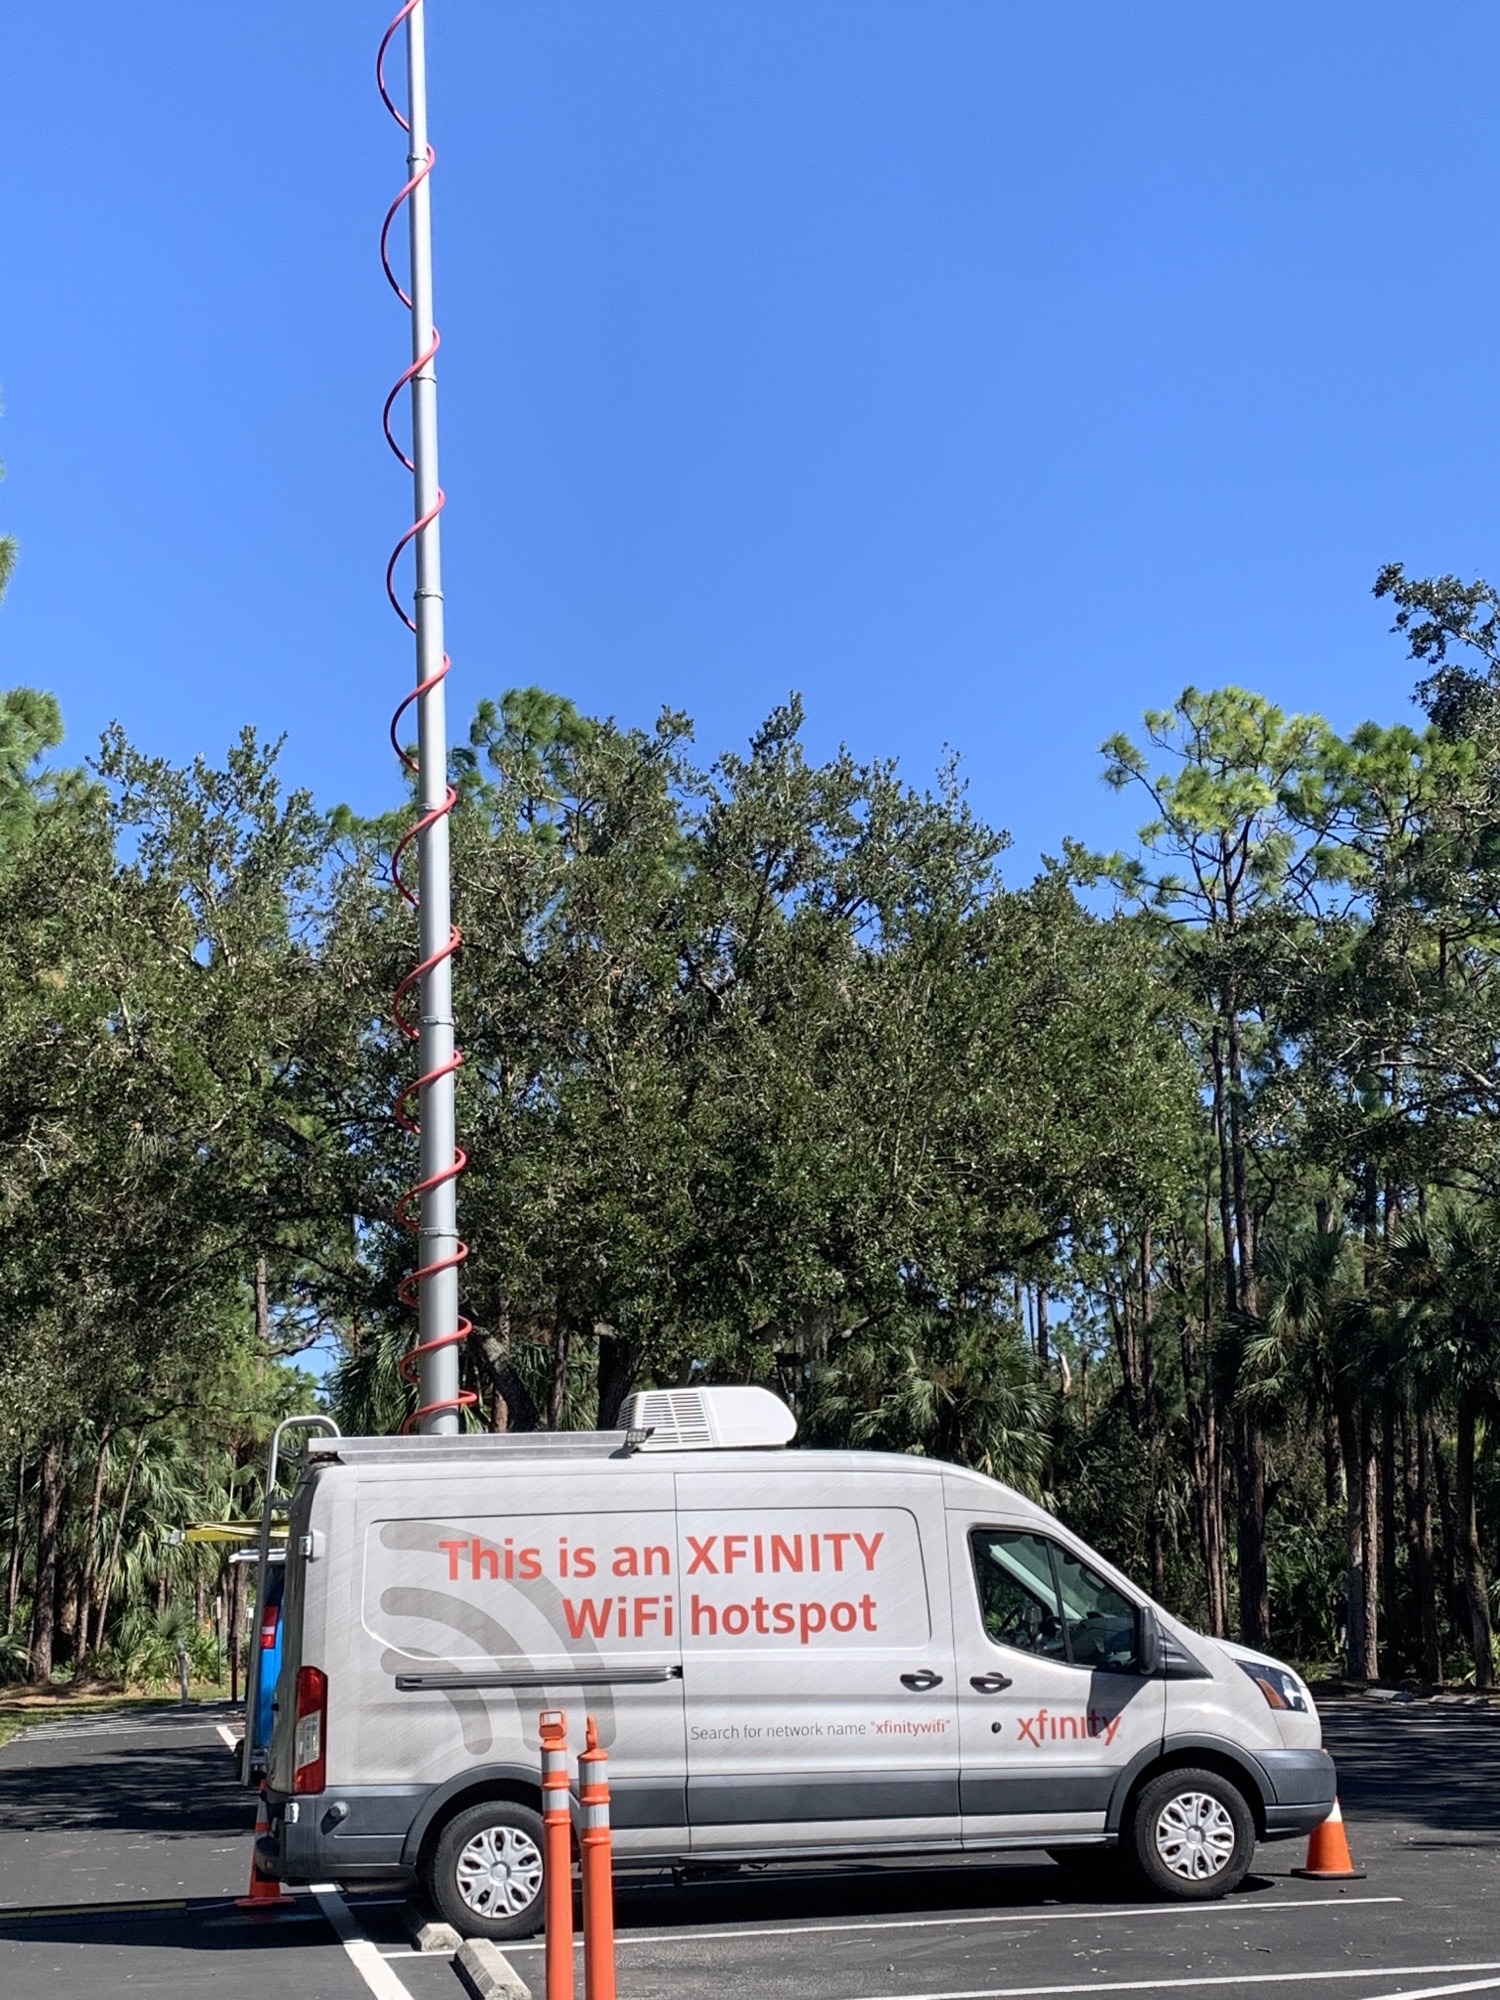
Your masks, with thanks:
<instances>
[{"instance_id":1,"label":"white van printed with This is an XFINITY WiFi hotspot","mask_svg":"<svg viewBox=\"0 0 1500 2000\"><path fill-rule=\"evenodd\" d=\"M264 1866L542 1912L538 1714L610 1752L616 1864L1120 1848L1222 1896L1334 1804L1298 1676L976 1472L792 1452L764 1390L628 1430L318 1438L292 1502Z\"/></svg>"}]
</instances>

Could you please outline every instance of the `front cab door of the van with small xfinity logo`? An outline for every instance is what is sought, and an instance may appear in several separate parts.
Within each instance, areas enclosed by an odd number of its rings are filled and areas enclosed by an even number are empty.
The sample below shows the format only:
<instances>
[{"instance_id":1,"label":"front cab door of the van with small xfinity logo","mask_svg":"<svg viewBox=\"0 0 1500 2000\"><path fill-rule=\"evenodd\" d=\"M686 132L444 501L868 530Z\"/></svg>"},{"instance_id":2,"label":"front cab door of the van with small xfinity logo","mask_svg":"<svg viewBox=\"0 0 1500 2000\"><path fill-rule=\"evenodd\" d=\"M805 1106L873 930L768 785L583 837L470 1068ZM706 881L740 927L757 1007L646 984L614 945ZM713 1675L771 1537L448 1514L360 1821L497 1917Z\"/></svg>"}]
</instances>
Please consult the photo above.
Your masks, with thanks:
<instances>
[{"instance_id":1,"label":"front cab door of the van with small xfinity logo","mask_svg":"<svg viewBox=\"0 0 1500 2000\"><path fill-rule=\"evenodd\" d=\"M948 1522L964 1840L1100 1834L1120 1770L1166 1730L1138 1604L1032 1524Z\"/></svg>"}]
</instances>

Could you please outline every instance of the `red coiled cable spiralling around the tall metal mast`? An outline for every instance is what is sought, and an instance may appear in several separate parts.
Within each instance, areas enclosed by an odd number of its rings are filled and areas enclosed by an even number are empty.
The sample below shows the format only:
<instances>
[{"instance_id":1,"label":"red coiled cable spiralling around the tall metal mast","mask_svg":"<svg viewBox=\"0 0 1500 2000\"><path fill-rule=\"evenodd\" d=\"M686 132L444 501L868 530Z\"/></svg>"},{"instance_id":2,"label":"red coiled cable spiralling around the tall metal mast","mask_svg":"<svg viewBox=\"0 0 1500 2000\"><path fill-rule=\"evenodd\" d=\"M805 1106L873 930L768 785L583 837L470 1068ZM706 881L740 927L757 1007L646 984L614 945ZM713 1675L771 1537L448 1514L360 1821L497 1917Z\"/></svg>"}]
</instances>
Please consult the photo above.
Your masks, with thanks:
<instances>
[{"instance_id":1,"label":"red coiled cable spiralling around the tall metal mast","mask_svg":"<svg viewBox=\"0 0 1500 2000\"><path fill-rule=\"evenodd\" d=\"M400 110L392 102L390 92L386 90L386 50L390 48L390 42L392 42L396 30L406 22L406 16L418 4L420 4L420 0L406 0L406 6L400 10L400 14L396 16L396 20L392 20L392 24L386 28L386 34L384 34L384 38L380 42L380 54L376 56L376 88L380 90L380 98L382 98L386 110L396 120L396 124L402 128L402 132L410 132L410 124L400 114ZM396 272L390 268L390 224L396 220L396 216L400 214L402 206L412 198L412 192L432 172L432 168L436 164L436 158L438 158L436 152L432 150L432 146L428 146L426 160L416 168L416 172L406 182L406 186L402 188L402 192L390 204L390 208L386 210L386 220L380 224L380 268L384 270L386 280L390 282L392 292L396 294L396 298L400 298L400 302L406 306L408 312L412 308L412 300L410 300L406 288L402 286L400 278L396 276ZM406 368L402 372L402 376L396 382L396 386L392 388L390 396L386 396L386 408L380 412L380 428L386 434L386 444L392 448L392 452L406 466L408 472L416 472L416 466L412 464L412 460L406 456L406 452L396 442L396 434L390 428L390 412L392 412L392 408L396 404L396 398L408 386L408 382L416 374L420 374L420 370L426 368L426 364L436 356L440 344L442 342L440 342L438 330L434 326L434 330L432 330L432 344L428 346L428 350L424 354L420 354L412 362L410 368ZM416 620L412 618L412 614L406 610L406 606L396 596L396 564L400 562L400 556L406 550L406 546L410 542L414 542L416 536L430 522L434 522L438 518L438 514L442 512L444 504L446 504L444 492L442 492L442 488L438 488L438 498L432 504L432 508L428 508L428 512L420 520L412 522L412 526L406 530L406 534L400 538L400 542L396 542L396 546L392 548L390 562L386 564L386 596L390 598L390 608L396 612L396 616L400 618L400 622L406 626L406 630L412 636L416 636ZM444 680L446 674L448 674L448 654L444 652L442 666L438 668L438 672L430 674L426 680L418 682L410 690L410 694L402 700L402 704L396 708L396 714L390 718L390 746L392 746L392 750L396 752L396 756L402 760L402 764L406 766L406 770L412 776L418 774L418 764L416 764L416 758L412 758L406 752L406 748L402 746L402 740L400 740L400 734L398 734L400 720L406 714L406 710L412 706L412 702L418 702L430 688L436 688L438 682ZM402 878L402 870L400 870L402 856L412 846L412 842L420 840L422 834L436 820L446 818L446 814L450 814L456 804L458 804L458 792L454 792L454 788L448 786L442 804L434 806L430 812L420 814L420 818L412 826L408 826L406 832L402 834L402 838L396 842L396 848L394 848L394 852L390 856L390 880L396 884L396 890L398 890L402 902L410 910L418 908L418 900L420 898L416 896L416 892L412 888L406 886L406 882ZM442 946L438 946L438 950L432 952L432 956L428 956L420 964L412 966L412 970L406 974L406 978L396 988L396 992L392 996L390 1012L392 1012L392 1016L396 1020L396 1026L400 1028L400 1032L406 1036L408 1042L420 1042L422 1036L420 1036L418 1024L412 1022L408 1018L406 1010L404 1010L406 996L414 988L418 988L422 984L424 976L428 972L432 972L434 966L442 964L444 958L452 958L452 954L458 950L460 944L462 944L462 932L458 930L458 924L452 924L450 930L448 930L448 942L442 944ZM440 1068L428 1070L426 1074L416 1076L416 1078L412 1078L410 1084L406 1084L406 1088L396 1096L396 1104L394 1104L396 1124L402 1128L402 1132L408 1132L412 1138L416 1138L420 1134L422 1126L420 1126L420 1118L414 1114L414 1106L420 1104L422 1090L426 1090L428 1084L436 1084L444 1076L452 1076L458 1070L458 1066L462 1064L462 1060L464 1060L462 1050L454 1050L452 1058L448 1062L444 1062ZM396 1220L402 1224L402 1228L418 1232L420 1230L420 1222L418 1222L416 1210L420 1208L422 1196L430 1194L432 1188L444 1186L444 1182L448 1182L448 1180L456 1180L464 1172L466 1166L468 1166L468 1154L462 1150L462 1146L454 1146L454 1158L452 1158L450 1166L442 1166L442 1168L438 1168L436 1174L428 1174L426 1180L418 1180L414 1186L406 1188L406 1192L396 1202ZM432 1264L420 1264L416 1270L408 1272L402 1278L402 1282L396 1286L396 1296L400 1298L400 1302L404 1306L416 1308L418 1300L420 1300L422 1280L424 1278L434 1278L442 1270L454 1270L454 1268L462 1266L466 1258L468 1258L468 1244L466 1242L458 1242L454 1246L452 1256L438 1258ZM468 1338L470 1332L472 1332L472 1322L466 1320L464 1314L460 1312L458 1326L456 1326L456 1330L452 1334L440 1334L436 1340L418 1340L402 1356L402 1362L400 1362L402 1380L410 1388L416 1388L420 1372L422 1372L422 1358L426 1354L436 1354L440 1348L458 1346L460 1342L464 1342ZM438 1402L428 1402L428 1404L422 1404L420 1408L412 1410L412 1414L402 1424L402 1432L412 1430L416 1424L422 1422L424 1416L434 1416L440 1410L466 1410L470 1404L476 1404L476 1402L478 1402L478 1396L474 1394L472 1388L460 1388L456 1396L446 1396L446 1398L440 1398Z\"/></svg>"}]
</instances>

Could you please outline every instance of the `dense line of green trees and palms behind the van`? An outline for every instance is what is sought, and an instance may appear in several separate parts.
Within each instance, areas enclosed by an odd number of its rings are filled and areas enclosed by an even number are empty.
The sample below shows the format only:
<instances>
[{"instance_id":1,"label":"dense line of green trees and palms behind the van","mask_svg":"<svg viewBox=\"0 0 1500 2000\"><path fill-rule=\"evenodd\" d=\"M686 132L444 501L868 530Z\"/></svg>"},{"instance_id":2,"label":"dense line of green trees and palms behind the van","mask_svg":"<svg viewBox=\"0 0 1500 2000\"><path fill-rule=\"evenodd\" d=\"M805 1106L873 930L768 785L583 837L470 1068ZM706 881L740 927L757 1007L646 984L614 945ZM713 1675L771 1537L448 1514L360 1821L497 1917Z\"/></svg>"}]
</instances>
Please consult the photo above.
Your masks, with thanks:
<instances>
[{"instance_id":1,"label":"dense line of green trees and palms behind the van","mask_svg":"<svg viewBox=\"0 0 1500 2000\"><path fill-rule=\"evenodd\" d=\"M1500 598L1376 590L1412 722L1188 688L1026 884L956 766L742 754L536 688L456 754L470 1422L764 1382L808 1442L1040 1496L1194 1624L1494 1678ZM246 732L0 698L0 1676L216 1596L270 1426L394 1430L390 852ZM332 1350L322 1388L298 1368ZM238 1634L236 1634L238 1636Z\"/></svg>"}]
</instances>

